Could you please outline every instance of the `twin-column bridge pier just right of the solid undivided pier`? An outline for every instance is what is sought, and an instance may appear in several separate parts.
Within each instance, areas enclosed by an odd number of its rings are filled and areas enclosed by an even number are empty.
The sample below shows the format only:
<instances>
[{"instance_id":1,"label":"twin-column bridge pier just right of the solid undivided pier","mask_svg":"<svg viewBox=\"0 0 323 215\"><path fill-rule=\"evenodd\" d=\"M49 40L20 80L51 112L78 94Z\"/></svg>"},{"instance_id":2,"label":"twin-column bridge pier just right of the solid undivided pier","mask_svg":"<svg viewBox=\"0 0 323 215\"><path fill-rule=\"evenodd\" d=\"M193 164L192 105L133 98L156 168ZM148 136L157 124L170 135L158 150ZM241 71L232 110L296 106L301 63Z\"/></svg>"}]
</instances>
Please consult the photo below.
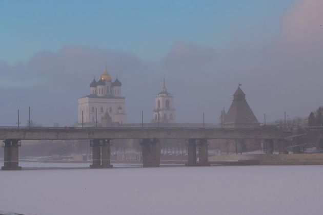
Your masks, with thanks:
<instances>
[{"instance_id":1,"label":"twin-column bridge pier just right of the solid undivided pier","mask_svg":"<svg viewBox=\"0 0 323 215\"><path fill-rule=\"evenodd\" d=\"M196 161L196 146L198 146L198 160ZM208 159L208 140L199 139L199 143L196 144L195 139L189 139L187 144L188 162L186 166L210 166Z\"/></svg>"}]
</instances>

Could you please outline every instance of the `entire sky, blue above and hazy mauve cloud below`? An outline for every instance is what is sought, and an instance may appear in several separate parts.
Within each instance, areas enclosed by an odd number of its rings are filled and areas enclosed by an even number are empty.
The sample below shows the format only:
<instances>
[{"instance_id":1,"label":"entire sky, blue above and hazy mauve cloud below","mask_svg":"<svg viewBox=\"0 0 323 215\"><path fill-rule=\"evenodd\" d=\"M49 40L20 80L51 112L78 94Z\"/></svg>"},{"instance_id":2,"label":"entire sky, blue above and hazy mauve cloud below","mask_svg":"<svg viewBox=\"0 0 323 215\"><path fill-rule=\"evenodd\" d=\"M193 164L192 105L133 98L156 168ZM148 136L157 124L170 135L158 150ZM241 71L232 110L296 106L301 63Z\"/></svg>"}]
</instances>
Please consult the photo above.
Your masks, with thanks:
<instances>
[{"instance_id":1,"label":"entire sky, blue above and hazy mauve cloud below","mask_svg":"<svg viewBox=\"0 0 323 215\"><path fill-rule=\"evenodd\" d=\"M1 1L0 125L70 125L107 66L128 122L166 87L178 122L217 123L238 83L260 122L322 105L323 2Z\"/></svg>"}]
</instances>

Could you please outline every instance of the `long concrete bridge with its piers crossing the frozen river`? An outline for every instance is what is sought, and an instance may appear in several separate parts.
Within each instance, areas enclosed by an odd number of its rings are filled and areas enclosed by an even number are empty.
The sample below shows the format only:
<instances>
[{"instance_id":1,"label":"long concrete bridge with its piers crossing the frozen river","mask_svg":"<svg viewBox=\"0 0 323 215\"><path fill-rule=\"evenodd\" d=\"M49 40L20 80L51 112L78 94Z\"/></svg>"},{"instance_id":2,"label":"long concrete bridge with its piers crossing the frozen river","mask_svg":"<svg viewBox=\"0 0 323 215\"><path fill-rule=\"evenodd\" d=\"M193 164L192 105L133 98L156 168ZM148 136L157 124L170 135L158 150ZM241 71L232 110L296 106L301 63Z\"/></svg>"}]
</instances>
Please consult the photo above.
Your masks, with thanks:
<instances>
[{"instance_id":1,"label":"long concrete bridge with its piers crossing the frozen river","mask_svg":"<svg viewBox=\"0 0 323 215\"><path fill-rule=\"evenodd\" d=\"M20 140L90 140L92 165L90 168L111 168L110 140L140 139L144 167L158 167L160 139L186 139L187 166L208 166L208 140L266 140L279 142L293 138L323 139L322 130L285 131L267 128L206 128L206 127L1 127L4 140L4 170L18 170ZM198 153L197 153L198 147ZM197 156L199 162L197 162Z\"/></svg>"}]
</instances>

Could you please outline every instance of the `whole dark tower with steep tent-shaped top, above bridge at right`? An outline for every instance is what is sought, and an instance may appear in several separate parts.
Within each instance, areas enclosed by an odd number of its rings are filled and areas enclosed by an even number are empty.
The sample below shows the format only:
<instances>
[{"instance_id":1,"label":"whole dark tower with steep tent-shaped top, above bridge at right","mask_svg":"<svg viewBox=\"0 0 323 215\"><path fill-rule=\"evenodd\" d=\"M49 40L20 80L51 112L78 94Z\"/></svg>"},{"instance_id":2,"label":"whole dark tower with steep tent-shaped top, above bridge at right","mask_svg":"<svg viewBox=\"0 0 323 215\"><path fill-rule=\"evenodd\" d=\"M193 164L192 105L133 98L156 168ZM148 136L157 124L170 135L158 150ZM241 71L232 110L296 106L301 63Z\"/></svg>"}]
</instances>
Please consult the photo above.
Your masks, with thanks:
<instances>
[{"instance_id":1,"label":"whole dark tower with steep tent-shaped top, above bridge at right","mask_svg":"<svg viewBox=\"0 0 323 215\"><path fill-rule=\"evenodd\" d=\"M233 95L233 102L223 120L223 126L228 128L253 128L259 125L260 123L246 100L246 94L239 86Z\"/></svg>"}]
</instances>

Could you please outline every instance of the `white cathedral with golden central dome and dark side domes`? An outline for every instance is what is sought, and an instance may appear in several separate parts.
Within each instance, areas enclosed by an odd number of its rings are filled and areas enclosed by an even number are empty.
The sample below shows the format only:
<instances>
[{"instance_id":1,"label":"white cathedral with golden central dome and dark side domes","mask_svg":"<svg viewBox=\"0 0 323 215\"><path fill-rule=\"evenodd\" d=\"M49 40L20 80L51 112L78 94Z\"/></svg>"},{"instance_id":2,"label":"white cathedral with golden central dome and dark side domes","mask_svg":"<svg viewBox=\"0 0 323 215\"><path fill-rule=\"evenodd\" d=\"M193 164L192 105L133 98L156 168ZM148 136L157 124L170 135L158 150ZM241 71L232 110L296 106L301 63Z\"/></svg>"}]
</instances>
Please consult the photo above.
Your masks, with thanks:
<instances>
[{"instance_id":1,"label":"white cathedral with golden central dome and dark side domes","mask_svg":"<svg viewBox=\"0 0 323 215\"><path fill-rule=\"evenodd\" d=\"M94 125L95 121L104 124L126 123L125 97L121 97L121 82L112 78L105 68L98 81L93 79L90 84L91 94L78 99L78 123ZM83 111L83 117L82 117Z\"/></svg>"}]
</instances>

